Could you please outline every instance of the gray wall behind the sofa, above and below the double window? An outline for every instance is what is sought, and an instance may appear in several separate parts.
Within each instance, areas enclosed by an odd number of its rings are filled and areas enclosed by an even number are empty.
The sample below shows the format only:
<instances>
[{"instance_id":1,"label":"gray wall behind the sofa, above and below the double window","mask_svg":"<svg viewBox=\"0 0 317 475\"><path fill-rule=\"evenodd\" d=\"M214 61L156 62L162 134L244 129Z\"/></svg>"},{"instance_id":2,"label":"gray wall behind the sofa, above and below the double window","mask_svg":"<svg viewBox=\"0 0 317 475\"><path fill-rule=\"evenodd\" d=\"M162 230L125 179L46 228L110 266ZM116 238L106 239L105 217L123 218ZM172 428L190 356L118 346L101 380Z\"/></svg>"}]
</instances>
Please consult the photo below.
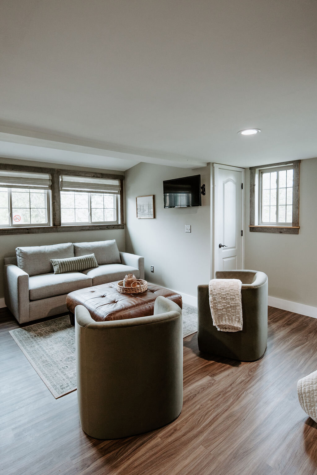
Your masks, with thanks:
<instances>
[{"instance_id":1,"label":"gray wall behind the sofa, above and below the double window","mask_svg":"<svg viewBox=\"0 0 317 475\"><path fill-rule=\"evenodd\" d=\"M38 163L34 161L13 160L0 158L2 163L15 163L30 166L45 166L52 168L65 168L81 171L101 171L92 168L70 167L66 165L57 165L56 163ZM122 171L102 170L107 173L123 175ZM48 244L59 244L63 242L82 242L82 241L102 241L106 239L115 239L120 251L125 250L125 229L102 230L102 231L72 231L65 233L43 233L43 234L17 234L10 236L0 236L0 298L4 297L3 283L3 258L14 256L15 248L18 246L44 246Z\"/></svg>"}]
</instances>

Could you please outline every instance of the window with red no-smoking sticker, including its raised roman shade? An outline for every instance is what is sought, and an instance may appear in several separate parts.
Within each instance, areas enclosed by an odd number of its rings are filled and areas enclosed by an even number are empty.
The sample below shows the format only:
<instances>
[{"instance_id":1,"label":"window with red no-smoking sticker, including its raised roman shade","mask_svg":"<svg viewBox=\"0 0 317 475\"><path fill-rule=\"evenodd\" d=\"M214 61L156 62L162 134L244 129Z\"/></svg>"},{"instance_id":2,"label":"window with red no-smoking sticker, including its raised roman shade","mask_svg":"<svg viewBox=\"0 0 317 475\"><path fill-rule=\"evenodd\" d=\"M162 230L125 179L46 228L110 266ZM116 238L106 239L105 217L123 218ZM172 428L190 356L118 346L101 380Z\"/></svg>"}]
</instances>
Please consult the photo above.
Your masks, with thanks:
<instances>
[{"instance_id":1,"label":"window with red no-smoking sticker, including its raised roman shade","mask_svg":"<svg viewBox=\"0 0 317 475\"><path fill-rule=\"evenodd\" d=\"M0 227L50 226L48 173L0 171Z\"/></svg>"}]
</instances>

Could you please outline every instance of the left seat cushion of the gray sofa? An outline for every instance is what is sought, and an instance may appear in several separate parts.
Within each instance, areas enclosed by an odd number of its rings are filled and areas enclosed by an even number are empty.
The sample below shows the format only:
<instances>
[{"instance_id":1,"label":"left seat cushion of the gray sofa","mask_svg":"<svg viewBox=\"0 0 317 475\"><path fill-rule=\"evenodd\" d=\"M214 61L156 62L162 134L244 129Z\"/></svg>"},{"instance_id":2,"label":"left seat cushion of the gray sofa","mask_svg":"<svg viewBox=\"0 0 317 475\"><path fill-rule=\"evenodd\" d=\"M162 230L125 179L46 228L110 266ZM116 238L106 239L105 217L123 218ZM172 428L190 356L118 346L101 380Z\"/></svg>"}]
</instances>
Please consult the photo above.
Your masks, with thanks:
<instances>
[{"instance_id":1,"label":"left seat cushion of the gray sofa","mask_svg":"<svg viewBox=\"0 0 317 475\"><path fill-rule=\"evenodd\" d=\"M69 294L73 290L92 285L92 279L81 272L42 274L29 277L29 299L40 300L55 295Z\"/></svg>"}]
</instances>

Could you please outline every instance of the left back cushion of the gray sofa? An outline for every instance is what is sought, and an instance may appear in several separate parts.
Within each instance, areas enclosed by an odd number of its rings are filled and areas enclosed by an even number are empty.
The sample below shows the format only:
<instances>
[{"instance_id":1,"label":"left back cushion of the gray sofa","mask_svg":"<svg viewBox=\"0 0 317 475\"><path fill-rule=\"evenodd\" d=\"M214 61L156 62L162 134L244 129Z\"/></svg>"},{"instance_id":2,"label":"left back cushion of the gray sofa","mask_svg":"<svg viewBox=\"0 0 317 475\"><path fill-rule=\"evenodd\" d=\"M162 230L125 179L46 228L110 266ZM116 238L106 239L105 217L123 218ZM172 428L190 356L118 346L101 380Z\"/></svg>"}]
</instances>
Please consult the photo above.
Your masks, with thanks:
<instances>
[{"instance_id":1,"label":"left back cushion of the gray sofa","mask_svg":"<svg viewBox=\"0 0 317 475\"><path fill-rule=\"evenodd\" d=\"M50 259L74 257L74 246L71 242L53 244L52 246L17 247L18 267L29 276L53 272Z\"/></svg>"}]
</instances>

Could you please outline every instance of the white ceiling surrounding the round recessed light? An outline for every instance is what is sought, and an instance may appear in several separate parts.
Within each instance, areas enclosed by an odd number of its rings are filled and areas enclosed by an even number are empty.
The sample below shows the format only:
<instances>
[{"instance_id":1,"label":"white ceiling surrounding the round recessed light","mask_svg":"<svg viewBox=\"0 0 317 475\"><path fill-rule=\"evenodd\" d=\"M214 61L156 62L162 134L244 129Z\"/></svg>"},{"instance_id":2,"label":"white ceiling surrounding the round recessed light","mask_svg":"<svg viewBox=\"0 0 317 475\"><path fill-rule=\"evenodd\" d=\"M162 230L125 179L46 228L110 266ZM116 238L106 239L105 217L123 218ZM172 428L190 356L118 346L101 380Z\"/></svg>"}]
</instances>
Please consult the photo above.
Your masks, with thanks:
<instances>
[{"instance_id":1,"label":"white ceiling surrounding the round recessed light","mask_svg":"<svg viewBox=\"0 0 317 475\"><path fill-rule=\"evenodd\" d=\"M113 170L316 157L316 24L316 0L1 0L0 155Z\"/></svg>"}]
</instances>

